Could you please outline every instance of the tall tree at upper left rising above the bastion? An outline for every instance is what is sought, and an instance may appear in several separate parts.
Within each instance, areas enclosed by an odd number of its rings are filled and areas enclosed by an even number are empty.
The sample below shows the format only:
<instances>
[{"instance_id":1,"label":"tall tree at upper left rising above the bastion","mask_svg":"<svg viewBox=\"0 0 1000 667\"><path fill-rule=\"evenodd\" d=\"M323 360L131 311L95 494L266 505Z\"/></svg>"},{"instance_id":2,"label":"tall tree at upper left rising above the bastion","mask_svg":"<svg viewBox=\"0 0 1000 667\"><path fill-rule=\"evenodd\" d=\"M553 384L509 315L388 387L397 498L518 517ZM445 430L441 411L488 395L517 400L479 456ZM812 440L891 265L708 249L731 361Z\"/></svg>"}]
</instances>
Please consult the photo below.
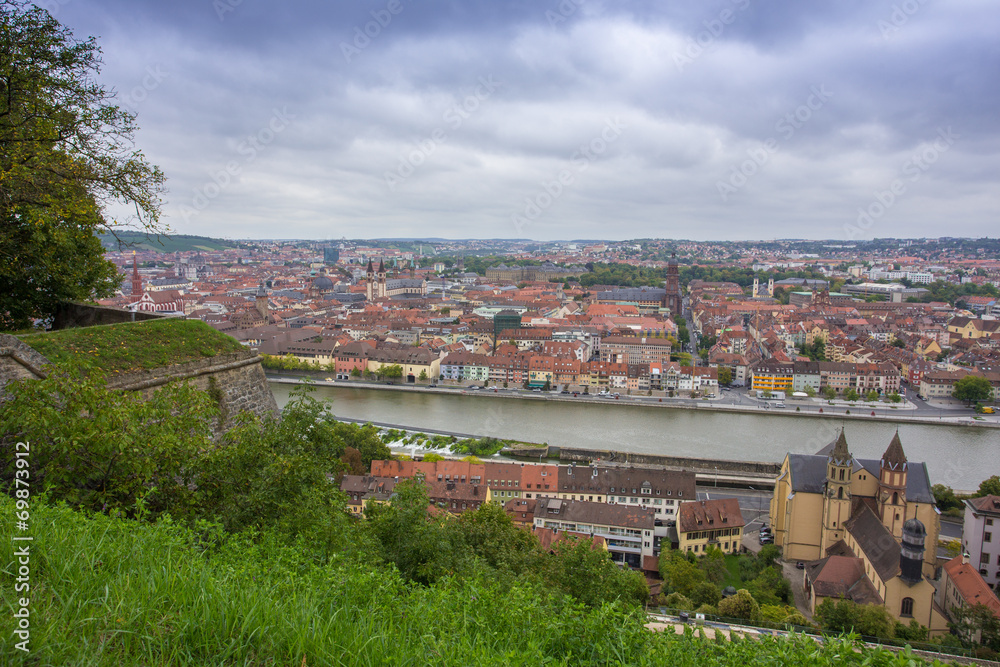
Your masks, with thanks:
<instances>
[{"instance_id":1,"label":"tall tree at upper left rising above the bastion","mask_svg":"<svg viewBox=\"0 0 1000 667\"><path fill-rule=\"evenodd\" d=\"M159 225L164 176L133 150L135 115L96 82L101 52L48 12L0 0L0 328L111 293L99 232ZM105 209L133 214L108 221Z\"/></svg>"}]
</instances>

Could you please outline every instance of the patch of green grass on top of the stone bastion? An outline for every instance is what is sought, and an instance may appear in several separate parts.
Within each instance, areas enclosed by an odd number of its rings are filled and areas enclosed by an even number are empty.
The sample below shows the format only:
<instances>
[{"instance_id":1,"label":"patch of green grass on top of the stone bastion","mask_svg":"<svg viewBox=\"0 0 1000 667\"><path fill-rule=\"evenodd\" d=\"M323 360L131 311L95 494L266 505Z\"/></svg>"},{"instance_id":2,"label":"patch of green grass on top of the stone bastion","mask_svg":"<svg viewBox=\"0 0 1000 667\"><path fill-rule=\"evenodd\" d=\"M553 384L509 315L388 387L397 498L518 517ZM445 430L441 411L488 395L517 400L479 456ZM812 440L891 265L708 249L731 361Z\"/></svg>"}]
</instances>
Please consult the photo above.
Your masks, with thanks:
<instances>
[{"instance_id":1,"label":"patch of green grass on top of the stone bastion","mask_svg":"<svg viewBox=\"0 0 1000 667\"><path fill-rule=\"evenodd\" d=\"M107 375L161 368L243 349L198 320L156 319L18 336L56 365Z\"/></svg>"}]
</instances>

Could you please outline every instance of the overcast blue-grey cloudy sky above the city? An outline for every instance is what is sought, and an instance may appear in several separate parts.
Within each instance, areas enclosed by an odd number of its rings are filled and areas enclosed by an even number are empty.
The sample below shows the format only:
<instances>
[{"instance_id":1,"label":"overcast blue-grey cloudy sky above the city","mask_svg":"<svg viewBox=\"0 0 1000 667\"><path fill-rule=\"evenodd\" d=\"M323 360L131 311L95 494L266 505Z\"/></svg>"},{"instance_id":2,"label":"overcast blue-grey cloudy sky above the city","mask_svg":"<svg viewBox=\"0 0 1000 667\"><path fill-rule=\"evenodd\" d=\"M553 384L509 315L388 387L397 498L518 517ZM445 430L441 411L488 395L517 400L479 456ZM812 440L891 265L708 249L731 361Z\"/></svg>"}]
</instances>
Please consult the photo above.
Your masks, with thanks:
<instances>
[{"instance_id":1,"label":"overcast blue-grey cloudy sky above the city","mask_svg":"<svg viewBox=\"0 0 1000 667\"><path fill-rule=\"evenodd\" d=\"M990 0L40 0L227 238L996 236Z\"/></svg>"}]
</instances>

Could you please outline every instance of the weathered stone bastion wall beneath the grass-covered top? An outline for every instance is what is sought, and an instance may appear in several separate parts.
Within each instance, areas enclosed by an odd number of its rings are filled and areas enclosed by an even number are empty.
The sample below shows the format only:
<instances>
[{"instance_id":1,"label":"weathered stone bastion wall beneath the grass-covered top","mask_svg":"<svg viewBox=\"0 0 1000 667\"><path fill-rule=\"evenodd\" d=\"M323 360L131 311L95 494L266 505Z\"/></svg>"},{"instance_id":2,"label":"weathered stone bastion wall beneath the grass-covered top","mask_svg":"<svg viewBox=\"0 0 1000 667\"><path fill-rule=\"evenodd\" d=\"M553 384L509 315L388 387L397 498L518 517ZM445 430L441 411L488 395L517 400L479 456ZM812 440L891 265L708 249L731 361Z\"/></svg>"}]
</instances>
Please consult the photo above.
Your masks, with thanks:
<instances>
[{"instance_id":1,"label":"weathered stone bastion wall beneath the grass-covered top","mask_svg":"<svg viewBox=\"0 0 1000 667\"><path fill-rule=\"evenodd\" d=\"M0 401L4 385L19 378L42 378L48 371L48 360L14 336L0 334ZM150 396L168 382L189 381L198 389L208 391L226 417L223 427L243 411L258 416L276 415L278 405L264 377L260 357L254 350L198 359L163 368L126 373L111 379L108 386L123 391L141 391Z\"/></svg>"}]
</instances>

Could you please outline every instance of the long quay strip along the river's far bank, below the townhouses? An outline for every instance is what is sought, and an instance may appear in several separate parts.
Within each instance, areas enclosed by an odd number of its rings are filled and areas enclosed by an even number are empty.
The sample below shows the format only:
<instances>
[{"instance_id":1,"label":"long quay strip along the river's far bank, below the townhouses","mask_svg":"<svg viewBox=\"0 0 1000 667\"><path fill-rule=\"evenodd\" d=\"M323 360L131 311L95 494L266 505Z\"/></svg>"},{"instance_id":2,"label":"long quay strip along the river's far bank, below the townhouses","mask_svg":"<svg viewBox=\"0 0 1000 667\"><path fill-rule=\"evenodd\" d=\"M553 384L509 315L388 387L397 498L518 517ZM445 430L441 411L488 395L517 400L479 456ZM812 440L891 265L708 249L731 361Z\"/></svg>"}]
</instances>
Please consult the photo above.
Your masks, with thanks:
<instances>
[{"instance_id":1,"label":"long quay strip along the river's far bank, below the townhouses","mask_svg":"<svg viewBox=\"0 0 1000 667\"><path fill-rule=\"evenodd\" d=\"M553 401L559 403L592 403L600 405L626 405L632 407L643 407L650 409L685 410L692 412L722 412L732 414L778 416L778 417L813 417L837 420L850 420L860 422L892 422L898 424L921 424L940 426L978 426L983 428L1000 428L1000 415L990 417L978 416L978 418L963 416L921 416L913 414L901 414L897 409L891 407L873 407L870 405L858 404L853 408L844 405L791 405L785 408L768 407L771 405L763 403L757 406L731 405L724 403L723 397L715 399L688 399L688 398L651 398L645 396L619 396L618 398L600 397L596 395L580 394L578 396L558 394L555 392L537 392L520 389L501 389L498 387L472 390L463 387L444 387L435 385L407 385L395 383L378 383L364 381L344 381L325 380L302 374L275 374L268 373L267 379L277 384L314 384L319 387L337 388L358 388L379 391L403 391L417 392L421 394L440 394L447 396L462 396L479 399L505 399L520 401ZM805 409L802 409L805 408Z\"/></svg>"}]
</instances>

